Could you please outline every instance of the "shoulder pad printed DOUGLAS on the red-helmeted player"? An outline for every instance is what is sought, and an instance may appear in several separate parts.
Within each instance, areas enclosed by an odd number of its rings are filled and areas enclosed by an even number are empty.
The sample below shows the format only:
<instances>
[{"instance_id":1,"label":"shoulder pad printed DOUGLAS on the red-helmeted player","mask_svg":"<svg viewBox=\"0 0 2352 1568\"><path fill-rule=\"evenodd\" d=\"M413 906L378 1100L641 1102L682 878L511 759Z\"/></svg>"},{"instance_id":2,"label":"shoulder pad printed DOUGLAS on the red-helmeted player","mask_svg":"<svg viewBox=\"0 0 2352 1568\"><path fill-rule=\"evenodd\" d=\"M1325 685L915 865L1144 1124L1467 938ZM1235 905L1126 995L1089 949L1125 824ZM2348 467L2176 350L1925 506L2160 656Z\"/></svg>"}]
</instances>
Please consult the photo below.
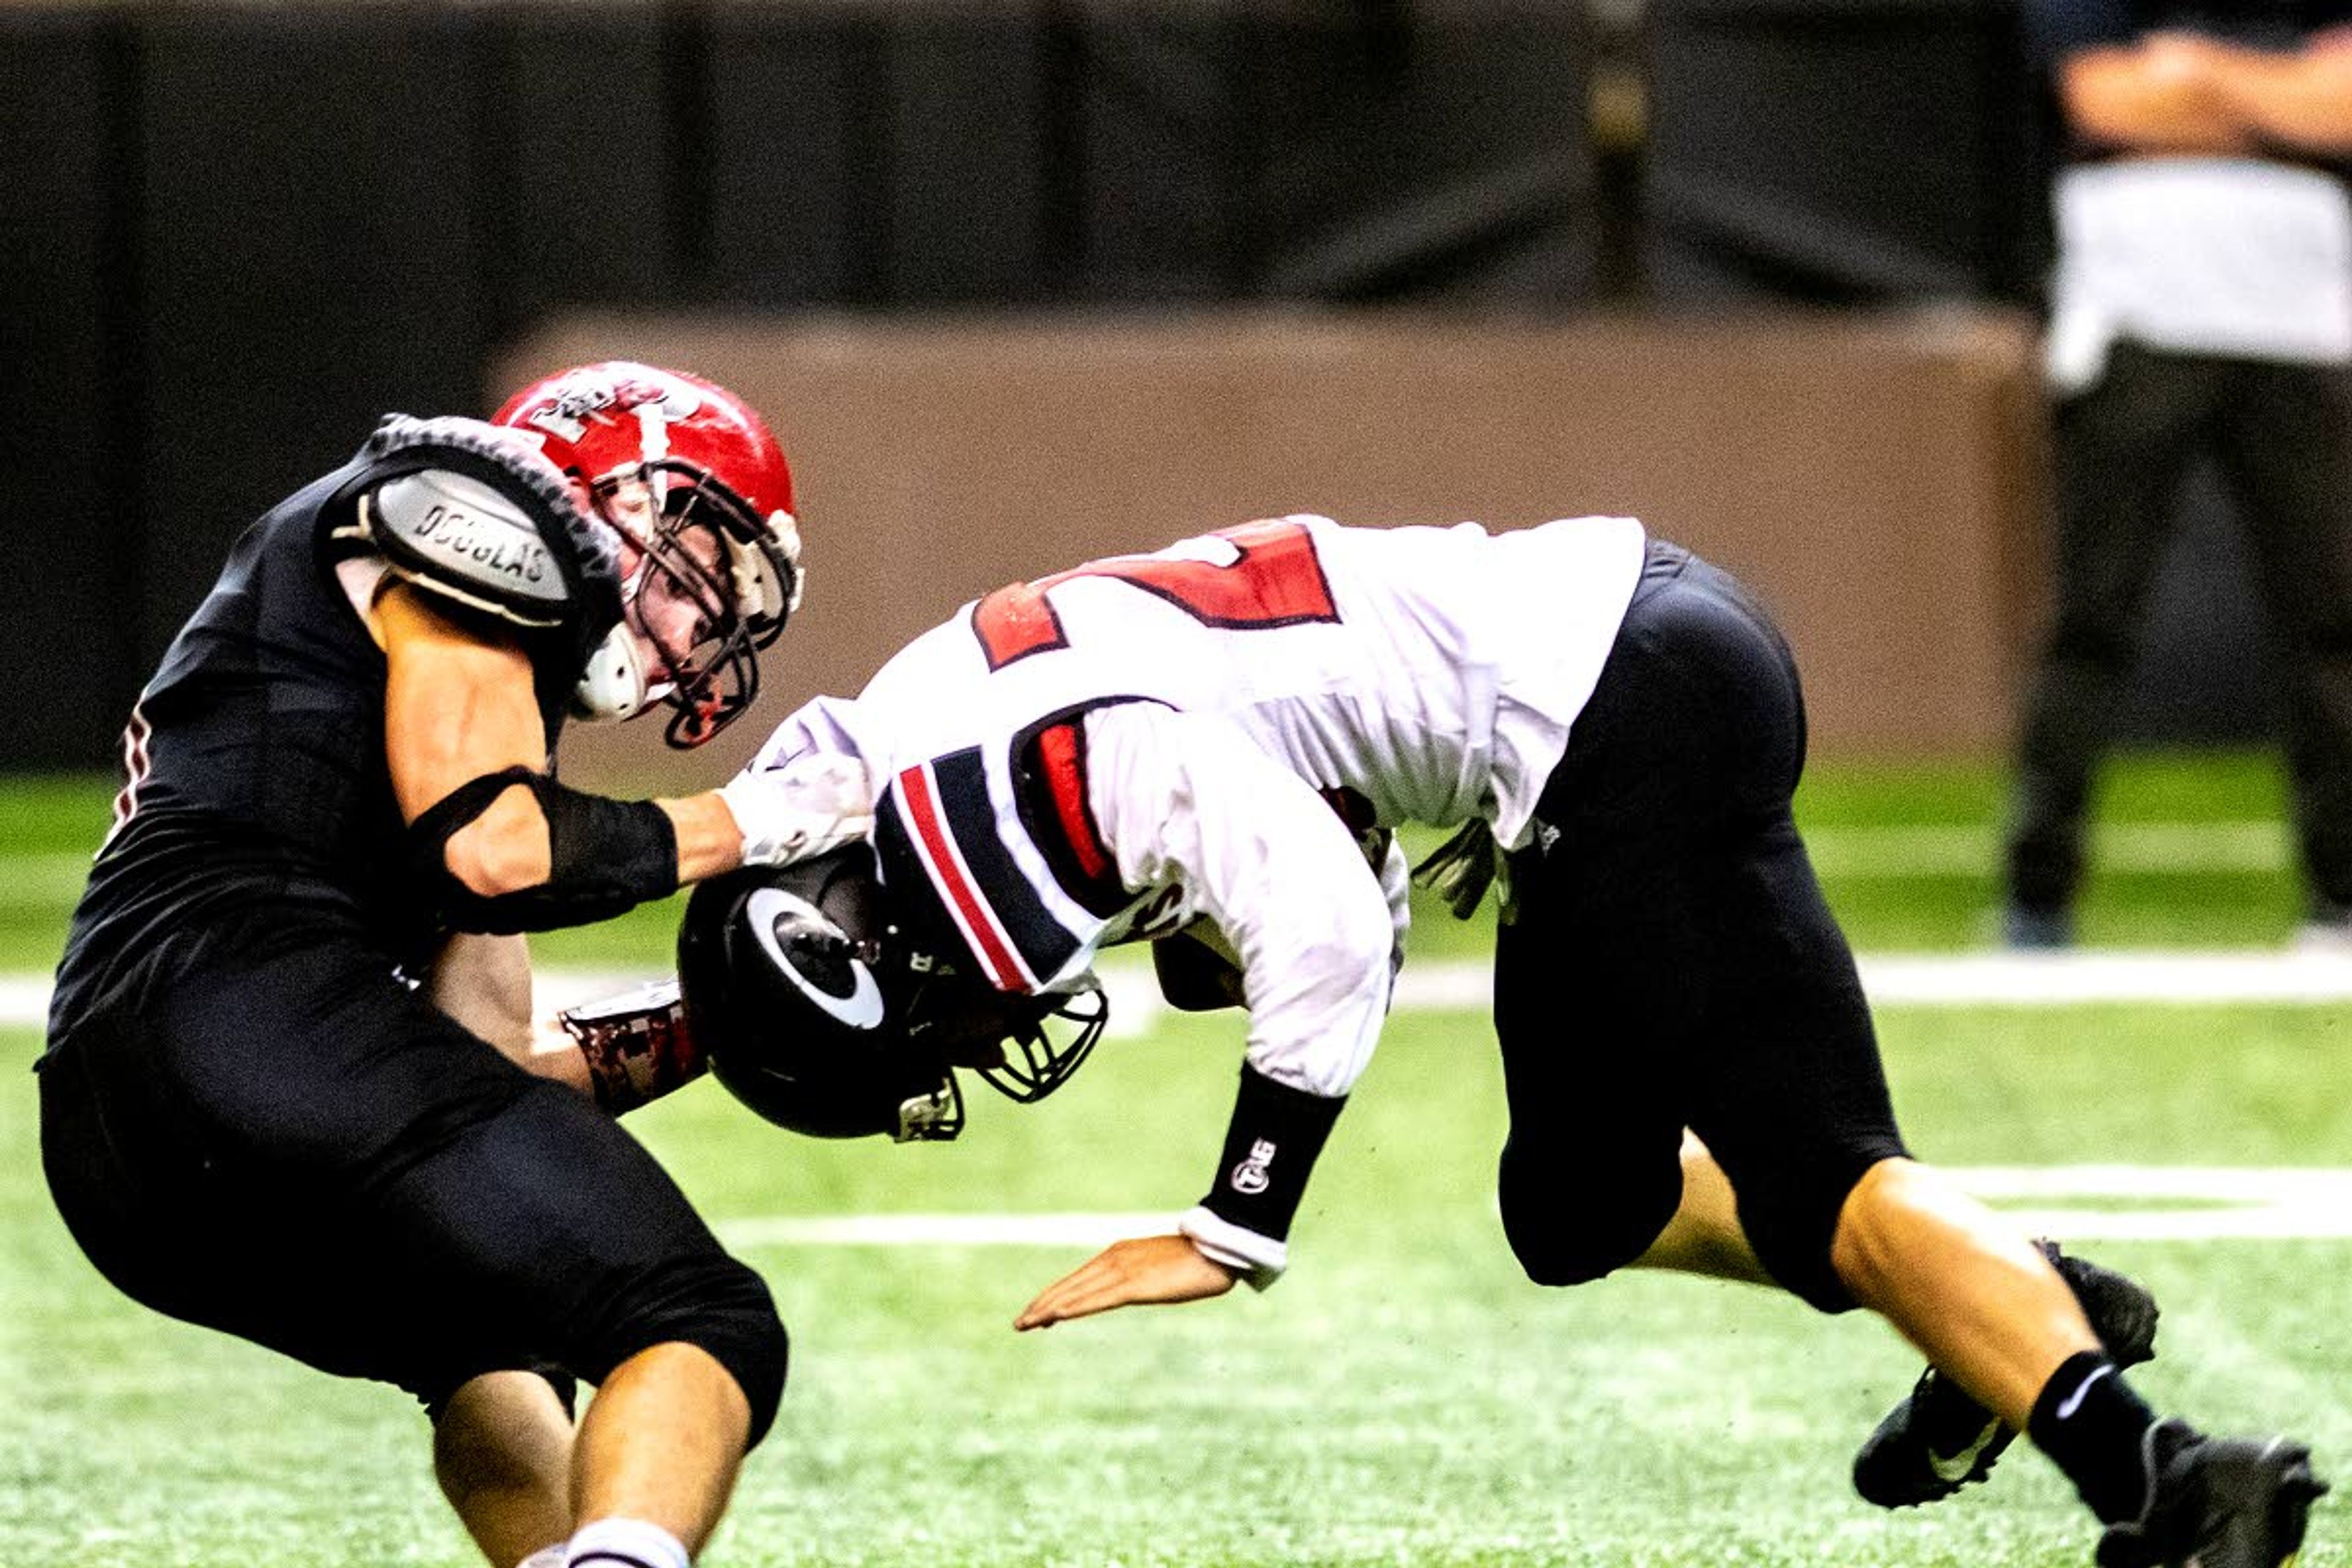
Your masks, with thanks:
<instances>
[{"instance_id":1,"label":"shoulder pad printed DOUGLAS on the red-helmeted player","mask_svg":"<svg viewBox=\"0 0 2352 1568\"><path fill-rule=\"evenodd\" d=\"M369 543L405 581L593 646L621 614L609 529L527 442L475 418L388 416L355 489Z\"/></svg>"}]
</instances>

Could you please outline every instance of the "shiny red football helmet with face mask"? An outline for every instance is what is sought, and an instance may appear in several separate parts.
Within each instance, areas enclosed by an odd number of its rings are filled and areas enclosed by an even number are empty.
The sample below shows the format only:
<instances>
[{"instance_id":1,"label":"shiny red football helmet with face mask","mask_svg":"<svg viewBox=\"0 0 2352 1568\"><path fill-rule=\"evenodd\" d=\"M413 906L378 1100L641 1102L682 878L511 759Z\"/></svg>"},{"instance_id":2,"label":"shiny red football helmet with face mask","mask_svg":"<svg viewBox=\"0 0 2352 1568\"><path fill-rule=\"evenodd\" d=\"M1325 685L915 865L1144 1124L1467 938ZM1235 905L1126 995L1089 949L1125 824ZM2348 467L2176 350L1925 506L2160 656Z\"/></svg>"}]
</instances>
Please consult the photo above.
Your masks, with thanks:
<instances>
[{"instance_id":1,"label":"shiny red football helmet with face mask","mask_svg":"<svg viewBox=\"0 0 2352 1568\"><path fill-rule=\"evenodd\" d=\"M760 693L760 649L800 607L793 468L776 437L727 388L628 360L534 381L492 423L534 437L619 536L621 625L574 710L626 719L661 698L670 745L720 733Z\"/></svg>"}]
</instances>

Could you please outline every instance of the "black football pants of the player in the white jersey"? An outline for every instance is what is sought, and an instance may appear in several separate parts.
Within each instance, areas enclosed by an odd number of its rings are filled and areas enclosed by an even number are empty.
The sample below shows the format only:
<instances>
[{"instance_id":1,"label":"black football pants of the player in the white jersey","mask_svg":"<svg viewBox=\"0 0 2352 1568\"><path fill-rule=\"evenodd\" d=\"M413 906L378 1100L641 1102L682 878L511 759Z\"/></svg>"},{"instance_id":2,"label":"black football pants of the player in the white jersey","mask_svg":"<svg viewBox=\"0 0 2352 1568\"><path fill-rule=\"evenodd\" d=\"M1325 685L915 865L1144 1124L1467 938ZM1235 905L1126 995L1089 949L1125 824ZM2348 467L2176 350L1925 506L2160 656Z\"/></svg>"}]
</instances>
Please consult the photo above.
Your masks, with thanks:
<instances>
[{"instance_id":1,"label":"black football pants of the player in the white jersey","mask_svg":"<svg viewBox=\"0 0 2352 1568\"><path fill-rule=\"evenodd\" d=\"M1541 1284L1632 1262L1693 1128L1773 1279L1851 1307L1837 1213L1903 1154L1870 1011L1790 818L1797 668L1724 571L1651 543L1512 858L1496 950L1503 1225Z\"/></svg>"}]
</instances>

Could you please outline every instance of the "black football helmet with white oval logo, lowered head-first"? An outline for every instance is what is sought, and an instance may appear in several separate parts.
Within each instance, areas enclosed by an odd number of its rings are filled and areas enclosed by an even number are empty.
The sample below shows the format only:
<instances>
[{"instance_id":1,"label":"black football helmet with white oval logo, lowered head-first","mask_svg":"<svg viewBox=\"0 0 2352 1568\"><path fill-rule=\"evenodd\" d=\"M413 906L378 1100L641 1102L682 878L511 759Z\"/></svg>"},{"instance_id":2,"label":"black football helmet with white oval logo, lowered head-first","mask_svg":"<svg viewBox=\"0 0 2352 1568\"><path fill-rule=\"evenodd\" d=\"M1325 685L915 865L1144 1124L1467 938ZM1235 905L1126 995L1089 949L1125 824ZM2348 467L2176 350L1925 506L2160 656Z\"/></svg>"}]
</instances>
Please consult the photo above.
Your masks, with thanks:
<instances>
[{"instance_id":1,"label":"black football helmet with white oval logo, lowered head-first","mask_svg":"<svg viewBox=\"0 0 2352 1568\"><path fill-rule=\"evenodd\" d=\"M866 842L694 889L677 931L687 1030L776 1126L898 1143L964 1131L955 1070L1042 1100L1108 1023L1098 987L1021 997L962 973L882 886Z\"/></svg>"}]
</instances>

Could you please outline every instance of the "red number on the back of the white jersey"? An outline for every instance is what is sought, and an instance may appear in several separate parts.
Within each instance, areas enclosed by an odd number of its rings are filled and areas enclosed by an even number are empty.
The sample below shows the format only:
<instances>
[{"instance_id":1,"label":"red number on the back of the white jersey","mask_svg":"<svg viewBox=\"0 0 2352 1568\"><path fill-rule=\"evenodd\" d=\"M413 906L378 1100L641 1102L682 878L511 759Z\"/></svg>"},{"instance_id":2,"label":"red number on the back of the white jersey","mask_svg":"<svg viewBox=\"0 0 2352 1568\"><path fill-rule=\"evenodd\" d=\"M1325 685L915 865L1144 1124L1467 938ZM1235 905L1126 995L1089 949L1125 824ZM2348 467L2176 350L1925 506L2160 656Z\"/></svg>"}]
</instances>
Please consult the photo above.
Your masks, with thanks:
<instances>
[{"instance_id":1,"label":"red number on the back of the white jersey","mask_svg":"<svg viewBox=\"0 0 2352 1568\"><path fill-rule=\"evenodd\" d=\"M1047 595L1082 576L1134 583L1202 625L1254 630L1338 621L1331 583L1324 581L1322 562L1315 559L1315 536L1308 534L1305 524L1244 522L1237 529L1221 529L1216 538L1232 541L1235 559L1214 564L1115 555L1056 571L1035 583L997 588L971 607L971 632L981 639L981 651L988 654L988 668L1002 670L1016 658L1070 646L1061 630L1061 616L1054 614Z\"/></svg>"}]
</instances>

